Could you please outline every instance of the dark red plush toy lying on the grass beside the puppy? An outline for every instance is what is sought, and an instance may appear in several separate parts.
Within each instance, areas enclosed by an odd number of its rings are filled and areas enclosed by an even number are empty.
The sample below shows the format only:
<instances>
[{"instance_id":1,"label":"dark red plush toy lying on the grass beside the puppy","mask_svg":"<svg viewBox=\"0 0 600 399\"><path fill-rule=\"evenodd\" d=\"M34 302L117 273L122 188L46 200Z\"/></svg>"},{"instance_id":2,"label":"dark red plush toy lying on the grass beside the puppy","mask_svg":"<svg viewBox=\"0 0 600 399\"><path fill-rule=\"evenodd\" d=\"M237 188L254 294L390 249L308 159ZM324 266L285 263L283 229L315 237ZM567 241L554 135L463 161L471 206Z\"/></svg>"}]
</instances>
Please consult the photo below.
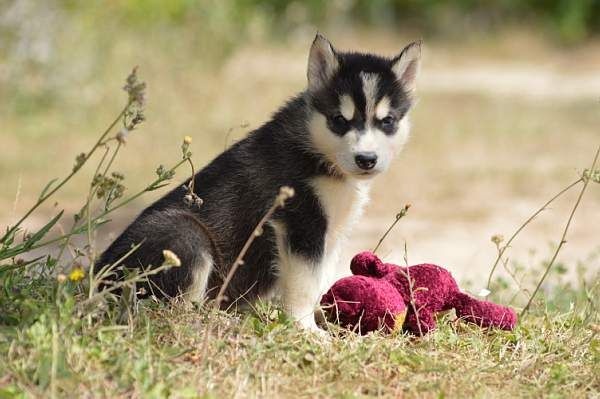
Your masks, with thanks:
<instances>
[{"instance_id":1,"label":"dark red plush toy lying on the grass beside the puppy","mask_svg":"<svg viewBox=\"0 0 600 399\"><path fill-rule=\"evenodd\" d=\"M435 313L450 309L481 327L512 330L517 322L514 310L462 293L450 272L440 266L401 267L362 252L352 259L350 269L354 276L338 280L321 306L330 321L361 334L400 328L425 334L435 328Z\"/></svg>"}]
</instances>

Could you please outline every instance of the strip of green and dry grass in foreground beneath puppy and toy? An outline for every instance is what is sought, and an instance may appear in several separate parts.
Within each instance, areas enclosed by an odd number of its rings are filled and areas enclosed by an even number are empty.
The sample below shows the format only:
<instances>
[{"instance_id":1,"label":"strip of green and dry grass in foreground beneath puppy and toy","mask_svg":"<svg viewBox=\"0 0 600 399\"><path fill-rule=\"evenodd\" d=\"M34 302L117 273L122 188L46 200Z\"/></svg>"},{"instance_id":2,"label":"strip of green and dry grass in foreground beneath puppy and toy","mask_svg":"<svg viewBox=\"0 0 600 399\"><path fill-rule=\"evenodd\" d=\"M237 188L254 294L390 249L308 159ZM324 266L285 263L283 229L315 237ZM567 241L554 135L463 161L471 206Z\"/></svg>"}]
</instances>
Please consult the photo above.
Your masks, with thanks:
<instances>
[{"instance_id":1,"label":"strip of green and dry grass in foreground beneath puppy and toy","mask_svg":"<svg viewBox=\"0 0 600 399\"><path fill-rule=\"evenodd\" d=\"M147 300L129 323L115 322L111 310L82 317L74 306L79 288L46 278L20 281L10 290L12 304L4 292L0 397L600 393L600 320L590 292L570 309L538 302L512 332L482 331L449 314L424 338L345 335L330 326L324 340L298 331L266 304L225 315Z\"/></svg>"}]
</instances>

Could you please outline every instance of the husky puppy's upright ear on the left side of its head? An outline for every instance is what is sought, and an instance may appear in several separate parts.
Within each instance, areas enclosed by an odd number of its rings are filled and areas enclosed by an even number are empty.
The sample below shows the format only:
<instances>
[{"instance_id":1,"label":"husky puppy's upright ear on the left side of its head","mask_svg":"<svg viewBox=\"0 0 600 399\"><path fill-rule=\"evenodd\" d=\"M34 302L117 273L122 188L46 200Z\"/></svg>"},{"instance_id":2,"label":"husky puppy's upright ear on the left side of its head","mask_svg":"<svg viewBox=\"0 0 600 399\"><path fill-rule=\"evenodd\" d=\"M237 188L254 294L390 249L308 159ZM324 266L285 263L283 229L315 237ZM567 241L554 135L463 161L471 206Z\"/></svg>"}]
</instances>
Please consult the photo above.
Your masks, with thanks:
<instances>
[{"instance_id":1,"label":"husky puppy's upright ear on the left side of its head","mask_svg":"<svg viewBox=\"0 0 600 399\"><path fill-rule=\"evenodd\" d=\"M308 90L318 91L327 85L339 67L335 50L331 43L317 33L308 56Z\"/></svg>"}]
</instances>

